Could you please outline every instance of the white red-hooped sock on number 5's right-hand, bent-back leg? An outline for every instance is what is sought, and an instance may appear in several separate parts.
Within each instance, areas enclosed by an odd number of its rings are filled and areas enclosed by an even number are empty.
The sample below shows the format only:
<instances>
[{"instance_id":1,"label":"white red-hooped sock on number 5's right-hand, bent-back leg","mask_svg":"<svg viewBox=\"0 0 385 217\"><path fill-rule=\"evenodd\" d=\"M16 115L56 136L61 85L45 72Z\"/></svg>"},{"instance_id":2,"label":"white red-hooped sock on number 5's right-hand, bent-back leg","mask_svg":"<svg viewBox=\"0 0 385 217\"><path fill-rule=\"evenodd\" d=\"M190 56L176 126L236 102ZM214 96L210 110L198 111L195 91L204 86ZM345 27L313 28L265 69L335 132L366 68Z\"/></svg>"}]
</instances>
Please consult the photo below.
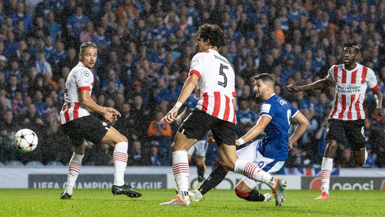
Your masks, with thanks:
<instances>
[{"instance_id":1,"label":"white red-hooped sock on number 5's right-hand, bent-back leg","mask_svg":"<svg viewBox=\"0 0 385 217\"><path fill-rule=\"evenodd\" d=\"M270 188L274 188L276 183L273 176L269 173L261 170L257 165L251 162L247 162L241 159L238 159L235 162L234 172L244 175L250 179L253 179L256 182L262 182L267 184Z\"/></svg>"}]
</instances>

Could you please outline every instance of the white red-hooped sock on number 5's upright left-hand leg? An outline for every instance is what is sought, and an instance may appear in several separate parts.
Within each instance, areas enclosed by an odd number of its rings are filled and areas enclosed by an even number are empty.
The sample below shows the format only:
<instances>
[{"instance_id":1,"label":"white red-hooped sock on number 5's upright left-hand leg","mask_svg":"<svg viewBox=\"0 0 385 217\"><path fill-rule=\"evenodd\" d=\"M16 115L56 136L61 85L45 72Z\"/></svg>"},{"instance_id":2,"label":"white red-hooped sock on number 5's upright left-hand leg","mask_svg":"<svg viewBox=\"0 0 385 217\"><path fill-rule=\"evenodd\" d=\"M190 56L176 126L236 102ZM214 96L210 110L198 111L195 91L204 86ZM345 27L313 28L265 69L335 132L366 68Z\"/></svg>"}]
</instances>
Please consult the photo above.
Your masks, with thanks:
<instances>
[{"instance_id":1,"label":"white red-hooped sock on number 5's upright left-hand leg","mask_svg":"<svg viewBox=\"0 0 385 217\"><path fill-rule=\"evenodd\" d=\"M176 187L178 188L178 197L180 199L188 199L188 176L190 168L188 166L187 152L172 152L172 172Z\"/></svg>"}]
</instances>

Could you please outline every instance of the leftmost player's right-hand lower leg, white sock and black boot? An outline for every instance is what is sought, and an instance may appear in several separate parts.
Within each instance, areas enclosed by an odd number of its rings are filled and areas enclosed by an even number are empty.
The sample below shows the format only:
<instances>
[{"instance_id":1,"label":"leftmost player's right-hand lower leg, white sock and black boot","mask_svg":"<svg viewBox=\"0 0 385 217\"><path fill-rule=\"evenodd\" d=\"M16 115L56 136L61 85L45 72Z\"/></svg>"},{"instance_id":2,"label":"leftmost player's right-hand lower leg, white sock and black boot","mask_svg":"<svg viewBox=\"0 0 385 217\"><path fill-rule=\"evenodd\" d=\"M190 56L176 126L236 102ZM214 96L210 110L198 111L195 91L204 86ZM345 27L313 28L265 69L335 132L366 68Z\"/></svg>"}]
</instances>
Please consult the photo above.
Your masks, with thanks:
<instances>
[{"instance_id":1,"label":"leftmost player's right-hand lower leg, white sock and black boot","mask_svg":"<svg viewBox=\"0 0 385 217\"><path fill-rule=\"evenodd\" d=\"M111 192L114 195L124 194L128 197L140 197L142 194L131 189L128 183L124 183L124 171L127 166L127 142L119 142L115 145L113 162L114 162L114 185L112 185Z\"/></svg>"}]
</instances>

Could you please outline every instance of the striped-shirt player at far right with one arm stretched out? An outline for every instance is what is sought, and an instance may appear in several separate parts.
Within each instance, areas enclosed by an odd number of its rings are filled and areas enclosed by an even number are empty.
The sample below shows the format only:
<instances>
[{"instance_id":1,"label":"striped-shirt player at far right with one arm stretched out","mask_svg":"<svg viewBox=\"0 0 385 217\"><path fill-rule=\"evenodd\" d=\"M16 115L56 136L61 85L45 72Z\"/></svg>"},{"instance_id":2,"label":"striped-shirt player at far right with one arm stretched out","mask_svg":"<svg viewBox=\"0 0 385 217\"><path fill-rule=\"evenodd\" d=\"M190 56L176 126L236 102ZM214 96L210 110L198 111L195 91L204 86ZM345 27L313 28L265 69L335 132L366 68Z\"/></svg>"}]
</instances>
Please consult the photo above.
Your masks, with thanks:
<instances>
[{"instance_id":1,"label":"striped-shirt player at far right with one arm stretched out","mask_svg":"<svg viewBox=\"0 0 385 217\"><path fill-rule=\"evenodd\" d=\"M338 144L342 144L346 137L352 151L352 160L358 166L365 163L364 120L362 102L367 87L374 93L376 107L374 113L382 116L382 95L379 91L373 70L358 64L359 46L354 40L344 44L344 63L333 65L324 79L304 86L289 85L292 91L320 89L335 84L335 97L329 115L326 131L326 150L321 165L322 193L316 199L329 199L330 173L333 167L333 157Z\"/></svg>"}]
</instances>

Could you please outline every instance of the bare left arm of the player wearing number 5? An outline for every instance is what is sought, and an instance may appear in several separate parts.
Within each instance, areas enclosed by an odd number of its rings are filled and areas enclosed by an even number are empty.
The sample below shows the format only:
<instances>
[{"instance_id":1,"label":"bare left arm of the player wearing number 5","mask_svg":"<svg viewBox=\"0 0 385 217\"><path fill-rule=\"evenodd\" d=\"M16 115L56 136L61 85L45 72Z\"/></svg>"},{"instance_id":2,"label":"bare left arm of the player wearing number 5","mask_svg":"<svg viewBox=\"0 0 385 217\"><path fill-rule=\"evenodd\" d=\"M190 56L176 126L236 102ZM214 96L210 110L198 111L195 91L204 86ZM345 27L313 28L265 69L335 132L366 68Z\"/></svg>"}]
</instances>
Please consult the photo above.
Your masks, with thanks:
<instances>
[{"instance_id":1,"label":"bare left arm of the player wearing number 5","mask_svg":"<svg viewBox=\"0 0 385 217\"><path fill-rule=\"evenodd\" d=\"M193 92L195 86L197 85L198 78L198 75L190 73L186 81L184 81L184 85L182 91L180 92L178 101L167 113L167 115L163 117L162 120L165 120L167 123L172 123L176 120L176 115L178 114L180 106L182 106L182 104L187 100L188 96L190 96L191 92Z\"/></svg>"}]
</instances>

